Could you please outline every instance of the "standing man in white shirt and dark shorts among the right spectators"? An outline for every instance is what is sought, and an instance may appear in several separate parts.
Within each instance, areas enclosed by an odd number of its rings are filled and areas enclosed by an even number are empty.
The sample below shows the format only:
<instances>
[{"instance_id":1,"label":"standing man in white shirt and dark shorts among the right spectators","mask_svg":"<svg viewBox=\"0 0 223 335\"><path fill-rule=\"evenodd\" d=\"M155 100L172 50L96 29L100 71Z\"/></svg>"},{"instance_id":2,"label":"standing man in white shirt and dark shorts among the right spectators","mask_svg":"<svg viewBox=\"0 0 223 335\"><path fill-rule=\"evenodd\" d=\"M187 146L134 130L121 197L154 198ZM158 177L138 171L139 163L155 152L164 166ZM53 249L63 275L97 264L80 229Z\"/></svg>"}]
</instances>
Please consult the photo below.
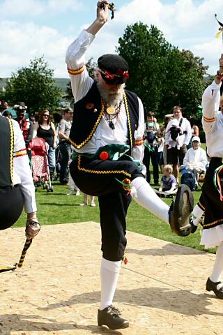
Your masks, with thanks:
<instances>
[{"instance_id":1,"label":"standing man in white shirt and dark shorts among the right spectators","mask_svg":"<svg viewBox=\"0 0 223 335\"><path fill-rule=\"evenodd\" d=\"M183 158L187 152L187 145L192 137L192 132L190 122L182 116L182 108L175 106L173 113L174 119L167 124L165 145L167 147L167 164L173 165L174 177L178 182L178 161L180 165L183 164Z\"/></svg>"}]
</instances>

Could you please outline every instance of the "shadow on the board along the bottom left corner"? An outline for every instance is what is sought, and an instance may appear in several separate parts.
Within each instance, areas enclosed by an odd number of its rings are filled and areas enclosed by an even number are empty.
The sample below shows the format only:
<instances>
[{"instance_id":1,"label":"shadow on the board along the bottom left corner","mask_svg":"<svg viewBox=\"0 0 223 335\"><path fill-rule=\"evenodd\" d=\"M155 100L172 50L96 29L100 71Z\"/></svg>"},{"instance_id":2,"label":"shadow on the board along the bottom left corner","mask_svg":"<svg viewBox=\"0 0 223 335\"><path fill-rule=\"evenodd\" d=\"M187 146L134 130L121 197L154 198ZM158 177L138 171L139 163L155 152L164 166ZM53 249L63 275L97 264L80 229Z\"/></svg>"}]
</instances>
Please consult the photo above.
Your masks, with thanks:
<instances>
[{"instance_id":1,"label":"shadow on the board along the bottom left corner","mask_svg":"<svg viewBox=\"0 0 223 335\"><path fill-rule=\"evenodd\" d=\"M31 319L31 320L29 320ZM36 321L33 321L36 320ZM38 321L41 320L41 321ZM42 320L47 320L43 322ZM78 325L77 322L57 322L52 318L43 318L40 315L21 315L21 314L3 314L0 315L0 334L11 334L11 332L60 332L63 330L72 330L72 334L78 334L76 331L85 330L91 334L116 334L121 335L121 332L111 331L105 327L97 325ZM35 333L37 334L37 333ZM56 333L57 334L57 333Z\"/></svg>"}]
</instances>

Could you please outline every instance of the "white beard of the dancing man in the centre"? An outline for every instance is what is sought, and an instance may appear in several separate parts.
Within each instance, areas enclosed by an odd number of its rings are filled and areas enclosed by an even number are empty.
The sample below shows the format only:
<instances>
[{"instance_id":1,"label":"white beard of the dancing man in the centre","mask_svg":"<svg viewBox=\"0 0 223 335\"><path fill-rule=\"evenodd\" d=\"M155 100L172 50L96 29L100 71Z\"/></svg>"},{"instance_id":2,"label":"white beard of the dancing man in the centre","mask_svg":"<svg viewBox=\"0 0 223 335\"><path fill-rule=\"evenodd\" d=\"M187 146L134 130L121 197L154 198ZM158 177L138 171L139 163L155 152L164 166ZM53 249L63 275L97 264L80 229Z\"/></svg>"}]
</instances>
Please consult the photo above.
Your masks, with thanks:
<instances>
[{"instance_id":1,"label":"white beard of the dancing man in the centre","mask_svg":"<svg viewBox=\"0 0 223 335\"><path fill-rule=\"evenodd\" d=\"M105 87L100 81L97 82L97 87L100 96L105 101L105 103L109 103L109 105L115 107L123 100L125 84L123 84L121 88L118 89L118 92L114 91L113 89L107 89L107 87Z\"/></svg>"}]
</instances>

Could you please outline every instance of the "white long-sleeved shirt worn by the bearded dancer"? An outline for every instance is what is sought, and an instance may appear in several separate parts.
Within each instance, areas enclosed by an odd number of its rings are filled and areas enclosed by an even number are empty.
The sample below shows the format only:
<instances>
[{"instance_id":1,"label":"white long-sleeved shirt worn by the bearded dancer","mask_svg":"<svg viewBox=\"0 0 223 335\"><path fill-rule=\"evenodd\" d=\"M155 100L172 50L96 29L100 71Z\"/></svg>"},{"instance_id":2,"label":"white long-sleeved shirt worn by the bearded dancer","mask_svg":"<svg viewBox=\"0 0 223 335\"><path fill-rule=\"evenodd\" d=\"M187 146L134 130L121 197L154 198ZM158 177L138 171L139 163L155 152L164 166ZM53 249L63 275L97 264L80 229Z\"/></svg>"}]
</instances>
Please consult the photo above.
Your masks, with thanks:
<instances>
[{"instance_id":1,"label":"white long-sleeved shirt worn by the bearded dancer","mask_svg":"<svg viewBox=\"0 0 223 335\"><path fill-rule=\"evenodd\" d=\"M68 47L66 53L66 64L68 65L72 94L75 98L75 102L86 96L93 84L93 79L89 77L89 73L86 70L84 54L91 45L94 37L95 36L89 34L87 31L82 31L77 39ZM144 135L144 108L139 98L138 101L139 126L133 134L135 140L141 140ZM91 140L86 143L82 149L75 150L79 153L95 154L98 148L104 147L107 144L127 144L128 120L124 104L121 105L121 111L118 114L118 117L112 121L115 126L114 130L109 127L107 120L102 117ZM132 157L140 162L142 161L144 157L143 144L136 145L133 148Z\"/></svg>"}]
</instances>

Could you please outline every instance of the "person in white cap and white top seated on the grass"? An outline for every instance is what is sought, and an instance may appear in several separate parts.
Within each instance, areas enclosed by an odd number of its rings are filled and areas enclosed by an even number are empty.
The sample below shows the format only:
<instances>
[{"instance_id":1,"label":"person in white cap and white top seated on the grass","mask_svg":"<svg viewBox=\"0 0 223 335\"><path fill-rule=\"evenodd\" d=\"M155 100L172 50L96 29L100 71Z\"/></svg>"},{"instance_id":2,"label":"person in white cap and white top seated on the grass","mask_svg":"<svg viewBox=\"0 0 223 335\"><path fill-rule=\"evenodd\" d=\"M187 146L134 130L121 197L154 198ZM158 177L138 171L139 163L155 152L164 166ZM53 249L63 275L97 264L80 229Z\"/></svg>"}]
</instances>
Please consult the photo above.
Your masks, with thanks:
<instances>
[{"instance_id":1,"label":"person in white cap and white top seated on the grass","mask_svg":"<svg viewBox=\"0 0 223 335\"><path fill-rule=\"evenodd\" d=\"M199 174L206 172L207 163L206 151L201 148L200 137L194 136L192 138L192 148L187 150L183 158L183 165L188 171L193 172L196 186L198 186Z\"/></svg>"}]
</instances>

